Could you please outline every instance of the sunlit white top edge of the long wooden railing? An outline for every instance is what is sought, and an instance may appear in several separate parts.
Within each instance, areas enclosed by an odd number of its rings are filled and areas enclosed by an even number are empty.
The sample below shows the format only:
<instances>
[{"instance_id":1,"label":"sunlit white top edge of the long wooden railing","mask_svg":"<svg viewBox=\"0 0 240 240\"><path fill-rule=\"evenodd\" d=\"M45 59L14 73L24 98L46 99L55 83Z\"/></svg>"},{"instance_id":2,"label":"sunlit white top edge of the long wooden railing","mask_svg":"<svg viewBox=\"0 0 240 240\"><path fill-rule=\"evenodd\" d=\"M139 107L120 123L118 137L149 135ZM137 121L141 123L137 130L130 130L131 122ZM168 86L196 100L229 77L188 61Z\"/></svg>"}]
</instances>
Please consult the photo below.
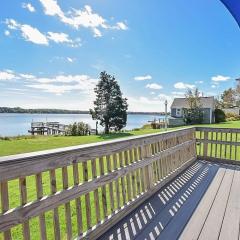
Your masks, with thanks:
<instances>
[{"instance_id":1,"label":"sunlit white top edge of the long wooden railing","mask_svg":"<svg viewBox=\"0 0 240 240\"><path fill-rule=\"evenodd\" d=\"M34 158L39 159L39 157L44 157L44 158L52 157L52 156L61 157L62 154L66 154L66 153L69 154L79 150L91 150L93 148L106 149L108 147L111 148L113 145L124 144L124 143L130 144L131 142L134 142L134 141L142 141L144 143L144 141L147 139L151 139L151 138L154 139L155 137L158 137L158 136L162 136L164 138L164 136L166 135L181 133L190 129L195 129L195 128L185 127L177 130L169 130L167 132L151 133L151 134L144 134L144 135L132 136L132 137L123 137L120 139L107 140L104 142L89 143L89 144L82 144L82 145L71 146L71 147L63 147L63 148L56 148L56 149L50 149L50 150L4 156L4 157L0 157L0 167L1 167L1 164L9 161L14 162L14 161L20 161L22 159L24 160L34 159Z\"/></svg>"}]
</instances>

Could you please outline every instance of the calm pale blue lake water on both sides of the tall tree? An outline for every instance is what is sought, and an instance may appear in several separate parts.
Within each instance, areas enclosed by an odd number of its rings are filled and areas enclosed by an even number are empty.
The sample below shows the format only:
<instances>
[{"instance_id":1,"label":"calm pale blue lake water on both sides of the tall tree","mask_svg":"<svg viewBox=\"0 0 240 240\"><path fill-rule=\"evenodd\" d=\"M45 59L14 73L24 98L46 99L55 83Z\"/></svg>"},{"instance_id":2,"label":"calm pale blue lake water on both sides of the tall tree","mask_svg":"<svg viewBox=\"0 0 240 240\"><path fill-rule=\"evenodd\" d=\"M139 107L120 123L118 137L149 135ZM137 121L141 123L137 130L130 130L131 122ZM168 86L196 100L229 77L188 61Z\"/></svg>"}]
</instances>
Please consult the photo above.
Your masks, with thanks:
<instances>
[{"instance_id":1,"label":"calm pale blue lake water on both sides of the tall tree","mask_svg":"<svg viewBox=\"0 0 240 240\"><path fill-rule=\"evenodd\" d=\"M148 121L163 116L154 115L128 115L126 129L142 127ZM56 121L63 124L71 124L83 121L95 128L95 121L88 114L0 114L0 136L26 135L30 129L31 122Z\"/></svg>"}]
</instances>

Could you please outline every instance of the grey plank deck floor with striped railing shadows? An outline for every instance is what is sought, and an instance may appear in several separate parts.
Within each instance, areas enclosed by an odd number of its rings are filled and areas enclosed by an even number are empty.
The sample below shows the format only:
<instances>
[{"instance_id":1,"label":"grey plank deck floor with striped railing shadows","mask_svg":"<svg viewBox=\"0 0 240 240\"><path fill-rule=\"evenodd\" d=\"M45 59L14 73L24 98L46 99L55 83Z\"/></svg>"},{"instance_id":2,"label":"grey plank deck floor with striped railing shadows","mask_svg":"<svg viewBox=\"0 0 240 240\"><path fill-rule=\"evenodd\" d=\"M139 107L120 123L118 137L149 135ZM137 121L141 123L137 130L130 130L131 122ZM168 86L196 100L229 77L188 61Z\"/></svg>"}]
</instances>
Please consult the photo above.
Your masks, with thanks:
<instances>
[{"instance_id":1,"label":"grey plank deck floor with striped railing shadows","mask_svg":"<svg viewBox=\"0 0 240 240\"><path fill-rule=\"evenodd\" d=\"M239 238L240 168L198 161L99 239Z\"/></svg>"}]
</instances>

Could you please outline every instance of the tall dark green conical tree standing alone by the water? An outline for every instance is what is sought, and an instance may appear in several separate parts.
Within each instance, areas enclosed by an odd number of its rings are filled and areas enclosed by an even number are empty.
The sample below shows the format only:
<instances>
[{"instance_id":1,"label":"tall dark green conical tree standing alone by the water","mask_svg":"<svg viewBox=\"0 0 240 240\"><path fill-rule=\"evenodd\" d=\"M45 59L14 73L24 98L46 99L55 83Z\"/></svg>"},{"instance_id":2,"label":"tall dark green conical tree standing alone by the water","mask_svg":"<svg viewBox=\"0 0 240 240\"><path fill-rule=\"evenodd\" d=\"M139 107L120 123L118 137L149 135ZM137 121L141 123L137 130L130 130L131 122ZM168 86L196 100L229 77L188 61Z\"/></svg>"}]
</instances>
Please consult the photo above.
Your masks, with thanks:
<instances>
[{"instance_id":1,"label":"tall dark green conical tree standing alone by the water","mask_svg":"<svg viewBox=\"0 0 240 240\"><path fill-rule=\"evenodd\" d=\"M114 76L106 72L100 73L99 82L94 89L96 100L94 108L90 109L93 120L99 120L105 133L110 130L119 131L127 123L127 99L123 98L118 82Z\"/></svg>"}]
</instances>

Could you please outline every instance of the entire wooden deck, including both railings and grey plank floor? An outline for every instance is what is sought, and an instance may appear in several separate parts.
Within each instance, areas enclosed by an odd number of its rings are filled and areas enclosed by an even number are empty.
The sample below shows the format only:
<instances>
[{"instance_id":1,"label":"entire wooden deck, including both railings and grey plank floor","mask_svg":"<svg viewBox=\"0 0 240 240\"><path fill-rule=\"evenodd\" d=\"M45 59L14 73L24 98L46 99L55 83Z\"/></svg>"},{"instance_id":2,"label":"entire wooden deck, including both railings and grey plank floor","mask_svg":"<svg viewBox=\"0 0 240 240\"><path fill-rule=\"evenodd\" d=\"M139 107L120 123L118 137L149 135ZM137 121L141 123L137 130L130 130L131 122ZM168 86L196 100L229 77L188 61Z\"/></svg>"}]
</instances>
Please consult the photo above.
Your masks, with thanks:
<instances>
[{"instance_id":1,"label":"entire wooden deck, including both railings and grey plank floor","mask_svg":"<svg viewBox=\"0 0 240 240\"><path fill-rule=\"evenodd\" d=\"M203 127L1 157L0 239L237 240L239 160Z\"/></svg>"}]
</instances>

